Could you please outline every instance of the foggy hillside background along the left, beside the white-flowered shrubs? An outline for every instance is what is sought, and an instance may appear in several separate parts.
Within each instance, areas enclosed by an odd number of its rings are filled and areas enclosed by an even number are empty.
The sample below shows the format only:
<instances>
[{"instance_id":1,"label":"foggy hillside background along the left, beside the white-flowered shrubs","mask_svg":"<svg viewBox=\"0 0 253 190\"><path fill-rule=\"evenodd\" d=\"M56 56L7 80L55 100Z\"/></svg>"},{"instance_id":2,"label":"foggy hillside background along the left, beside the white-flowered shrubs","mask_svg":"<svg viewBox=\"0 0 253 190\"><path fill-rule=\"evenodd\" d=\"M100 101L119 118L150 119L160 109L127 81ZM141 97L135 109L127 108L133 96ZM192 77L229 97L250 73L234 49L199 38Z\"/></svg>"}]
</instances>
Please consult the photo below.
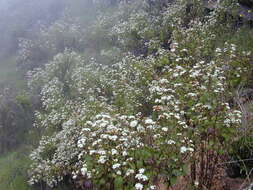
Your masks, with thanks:
<instances>
[{"instance_id":1,"label":"foggy hillside background along the left, beside the white-flowered shrubs","mask_svg":"<svg viewBox=\"0 0 253 190\"><path fill-rule=\"evenodd\" d=\"M1 190L31 189L26 183L28 155L40 138L39 131L31 131L40 101L28 93L26 73L65 49L64 39L72 40L76 35L70 27L80 23L85 28L92 22L92 4L89 0L0 0ZM52 50L45 41L58 46ZM33 45L24 47L26 42ZM26 50L31 54L22 59Z\"/></svg>"}]
</instances>

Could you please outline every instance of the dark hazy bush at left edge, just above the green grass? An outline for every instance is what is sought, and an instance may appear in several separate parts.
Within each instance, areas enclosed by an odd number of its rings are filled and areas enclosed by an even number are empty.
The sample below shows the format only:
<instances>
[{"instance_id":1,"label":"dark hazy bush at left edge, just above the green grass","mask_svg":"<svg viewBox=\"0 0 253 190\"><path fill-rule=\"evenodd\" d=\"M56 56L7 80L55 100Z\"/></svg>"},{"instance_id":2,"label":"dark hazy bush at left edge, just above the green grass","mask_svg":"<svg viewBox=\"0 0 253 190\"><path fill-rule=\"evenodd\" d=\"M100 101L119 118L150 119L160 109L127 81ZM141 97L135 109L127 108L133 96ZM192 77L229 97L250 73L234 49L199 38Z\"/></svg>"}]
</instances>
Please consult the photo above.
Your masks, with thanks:
<instances>
[{"instance_id":1,"label":"dark hazy bush at left edge, just above the green grass","mask_svg":"<svg viewBox=\"0 0 253 190\"><path fill-rule=\"evenodd\" d=\"M26 95L16 95L13 89L3 88L0 94L0 153L23 144L25 134L32 127L32 112Z\"/></svg>"}]
</instances>

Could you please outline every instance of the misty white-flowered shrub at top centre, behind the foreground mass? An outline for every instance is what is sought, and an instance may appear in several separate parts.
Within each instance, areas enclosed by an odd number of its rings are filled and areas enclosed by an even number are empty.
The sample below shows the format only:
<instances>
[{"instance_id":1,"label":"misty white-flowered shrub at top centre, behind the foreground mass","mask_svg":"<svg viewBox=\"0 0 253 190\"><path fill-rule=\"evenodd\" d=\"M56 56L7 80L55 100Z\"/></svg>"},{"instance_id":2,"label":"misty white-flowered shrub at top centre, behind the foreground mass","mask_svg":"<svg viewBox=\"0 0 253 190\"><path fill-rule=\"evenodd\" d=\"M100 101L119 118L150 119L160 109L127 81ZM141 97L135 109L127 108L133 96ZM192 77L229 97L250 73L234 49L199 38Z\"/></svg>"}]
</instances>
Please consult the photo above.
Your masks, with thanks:
<instances>
[{"instance_id":1,"label":"misty white-flowered shrub at top centre, behind the foreground mass","mask_svg":"<svg viewBox=\"0 0 253 190\"><path fill-rule=\"evenodd\" d=\"M160 45L166 45L171 31L163 14L167 6L161 8L160 5L160 1L138 0L119 3L116 11L102 11L103 14L90 28L93 44L99 50L108 49L108 44L111 44L121 52L130 51L135 55L147 55Z\"/></svg>"}]
</instances>

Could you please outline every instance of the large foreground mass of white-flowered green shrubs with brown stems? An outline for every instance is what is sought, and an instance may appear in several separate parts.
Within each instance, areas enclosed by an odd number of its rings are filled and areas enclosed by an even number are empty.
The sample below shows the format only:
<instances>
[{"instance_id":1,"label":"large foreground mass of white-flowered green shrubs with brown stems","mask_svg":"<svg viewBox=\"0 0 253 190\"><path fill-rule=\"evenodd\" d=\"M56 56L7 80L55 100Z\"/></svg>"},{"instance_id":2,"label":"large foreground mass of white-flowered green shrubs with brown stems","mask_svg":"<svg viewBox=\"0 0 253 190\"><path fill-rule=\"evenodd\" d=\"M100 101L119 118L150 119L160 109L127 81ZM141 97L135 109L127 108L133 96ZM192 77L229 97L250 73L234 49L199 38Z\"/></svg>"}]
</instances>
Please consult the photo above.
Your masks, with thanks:
<instances>
[{"instance_id":1,"label":"large foreground mass of white-flowered green shrubs with brown stems","mask_svg":"<svg viewBox=\"0 0 253 190\"><path fill-rule=\"evenodd\" d=\"M190 185L210 188L241 123L228 81L243 79L238 63L250 56L215 47L213 24L176 27L171 49L148 57L102 66L65 51L31 73L44 106L35 126L46 135L31 154L29 182L142 190L190 174Z\"/></svg>"}]
</instances>

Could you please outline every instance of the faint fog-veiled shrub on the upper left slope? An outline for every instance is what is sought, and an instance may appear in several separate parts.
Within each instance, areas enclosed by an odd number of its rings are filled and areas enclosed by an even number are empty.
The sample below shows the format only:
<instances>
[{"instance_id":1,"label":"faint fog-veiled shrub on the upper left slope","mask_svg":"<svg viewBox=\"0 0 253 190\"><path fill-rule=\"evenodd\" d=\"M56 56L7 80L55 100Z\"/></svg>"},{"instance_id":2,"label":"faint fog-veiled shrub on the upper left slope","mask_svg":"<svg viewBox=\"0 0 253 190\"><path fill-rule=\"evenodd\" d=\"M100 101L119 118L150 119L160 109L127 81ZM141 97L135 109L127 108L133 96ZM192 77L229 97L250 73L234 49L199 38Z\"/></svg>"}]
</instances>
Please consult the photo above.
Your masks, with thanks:
<instances>
[{"instance_id":1,"label":"faint fog-veiled shrub on the upper left slope","mask_svg":"<svg viewBox=\"0 0 253 190\"><path fill-rule=\"evenodd\" d=\"M32 70L65 49L82 51L83 46L84 31L78 21L57 20L48 28L40 26L33 39L20 39L18 64L26 71Z\"/></svg>"}]
</instances>

